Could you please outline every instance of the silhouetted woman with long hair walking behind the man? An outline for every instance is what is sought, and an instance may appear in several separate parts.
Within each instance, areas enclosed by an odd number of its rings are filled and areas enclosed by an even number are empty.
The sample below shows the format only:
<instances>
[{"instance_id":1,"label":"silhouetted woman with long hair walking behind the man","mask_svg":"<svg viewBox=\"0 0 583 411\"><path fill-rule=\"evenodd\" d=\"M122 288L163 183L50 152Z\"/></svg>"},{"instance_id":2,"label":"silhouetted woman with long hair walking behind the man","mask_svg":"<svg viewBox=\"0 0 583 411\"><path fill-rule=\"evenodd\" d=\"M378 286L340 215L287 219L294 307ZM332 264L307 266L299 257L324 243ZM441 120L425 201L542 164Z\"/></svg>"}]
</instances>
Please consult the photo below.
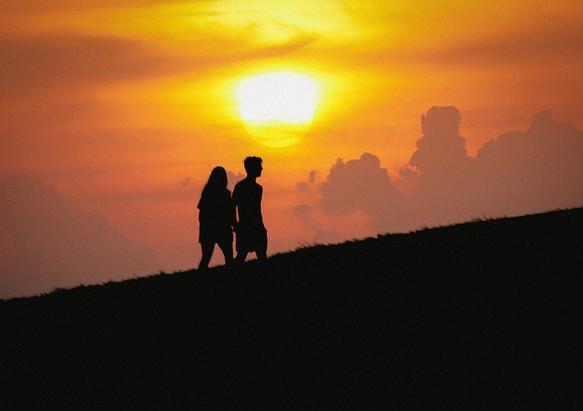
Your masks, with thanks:
<instances>
[{"instance_id":1,"label":"silhouetted woman with long hair walking behind the man","mask_svg":"<svg viewBox=\"0 0 583 411\"><path fill-rule=\"evenodd\" d=\"M200 195L199 242L202 259L199 269L209 266L215 244L219 244L225 256L225 264L233 261L232 227L235 223L235 208L227 183L227 171L222 167L215 167Z\"/></svg>"}]
</instances>

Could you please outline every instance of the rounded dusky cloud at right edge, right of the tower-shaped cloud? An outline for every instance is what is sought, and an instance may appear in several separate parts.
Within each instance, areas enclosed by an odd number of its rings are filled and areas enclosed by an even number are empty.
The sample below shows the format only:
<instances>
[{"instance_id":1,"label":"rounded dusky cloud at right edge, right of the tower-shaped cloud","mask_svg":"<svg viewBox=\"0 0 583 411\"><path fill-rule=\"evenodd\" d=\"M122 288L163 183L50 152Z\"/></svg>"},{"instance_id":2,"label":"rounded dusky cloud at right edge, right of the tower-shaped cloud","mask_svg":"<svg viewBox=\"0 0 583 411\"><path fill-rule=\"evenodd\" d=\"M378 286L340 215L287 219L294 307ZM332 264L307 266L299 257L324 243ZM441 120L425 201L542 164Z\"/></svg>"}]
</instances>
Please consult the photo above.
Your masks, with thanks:
<instances>
[{"instance_id":1,"label":"rounded dusky cloud at right edge, right of the tower-shaped cloud","mask_svg":"<svg viewBox=\"0 0 583 411\"><path fill-rule=\"evenodd\" d=\"M477 201L496 213L583 206L583 131L537 114L476 154Z\"/></svg>"}]
</instances>

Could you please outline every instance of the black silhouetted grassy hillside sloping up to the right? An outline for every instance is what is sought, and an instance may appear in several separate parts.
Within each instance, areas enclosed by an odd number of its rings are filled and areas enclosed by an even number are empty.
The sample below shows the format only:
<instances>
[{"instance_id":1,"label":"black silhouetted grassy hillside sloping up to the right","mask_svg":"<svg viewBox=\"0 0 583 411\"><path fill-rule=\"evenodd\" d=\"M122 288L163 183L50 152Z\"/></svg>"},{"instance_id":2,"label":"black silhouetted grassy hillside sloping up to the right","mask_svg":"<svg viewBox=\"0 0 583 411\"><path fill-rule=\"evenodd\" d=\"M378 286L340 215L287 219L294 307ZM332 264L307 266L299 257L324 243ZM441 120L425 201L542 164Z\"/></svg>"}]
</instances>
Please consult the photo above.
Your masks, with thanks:
<instances>
[{"instance_id":1,"label":"black silhouetted grassy hillside sloping up to the right","mask_svg":"<svg viewBox=\"0 0 583 411\"><path fill-rule=\"evenodd\" d=\"M2 402L560 409L582 268L579 208L0 301Z\"/></svg>"}]
</instances>

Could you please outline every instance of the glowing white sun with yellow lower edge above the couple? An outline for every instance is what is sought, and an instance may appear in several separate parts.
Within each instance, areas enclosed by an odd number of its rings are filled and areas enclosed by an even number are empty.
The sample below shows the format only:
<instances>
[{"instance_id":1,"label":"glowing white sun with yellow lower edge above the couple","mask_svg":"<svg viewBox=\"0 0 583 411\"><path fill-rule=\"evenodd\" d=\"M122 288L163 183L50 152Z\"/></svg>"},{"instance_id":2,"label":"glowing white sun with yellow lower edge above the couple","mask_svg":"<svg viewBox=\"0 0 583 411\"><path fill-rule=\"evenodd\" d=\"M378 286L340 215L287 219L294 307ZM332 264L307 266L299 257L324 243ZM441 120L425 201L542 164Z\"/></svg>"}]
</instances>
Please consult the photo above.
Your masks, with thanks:
<instances>
[{"instance_id":1,"label":"glowing white sun with yellow lower edge above the couple","mask_svg":"<svg viewBox=\"0 0 583 411\"><path fill-rule=\"evenodd\" d=\"M312 124L318 83L302 74L273 72L242 80L235 96L253 139L269 147L288 147Z\"/></svg>"}]
</instances>

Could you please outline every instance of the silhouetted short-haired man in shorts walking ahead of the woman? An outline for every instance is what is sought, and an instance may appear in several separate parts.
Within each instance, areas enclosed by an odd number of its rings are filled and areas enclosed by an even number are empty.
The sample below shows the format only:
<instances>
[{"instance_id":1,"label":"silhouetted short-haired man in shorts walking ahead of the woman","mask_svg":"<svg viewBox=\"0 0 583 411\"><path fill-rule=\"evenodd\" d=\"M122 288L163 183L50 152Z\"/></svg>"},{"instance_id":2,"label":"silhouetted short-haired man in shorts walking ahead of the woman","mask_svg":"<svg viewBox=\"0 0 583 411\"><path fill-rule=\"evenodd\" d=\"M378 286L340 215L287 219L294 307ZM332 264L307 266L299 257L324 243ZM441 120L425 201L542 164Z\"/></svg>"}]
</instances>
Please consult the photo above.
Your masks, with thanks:
<instances>
[{"instance_id":1,"label":"silhouetted short-haired man in shorts walking ahead of the woman","mask_svg":"<svg viewBox=\"0 0 583 411\"><path fill-rule=\"evenodd\" d=\"M250 252L255 252L258 260L267 258L267 230L261 216L263 188L255 181L261 177L262 161L259 157L245 159L247 177L239 181L233 190L233 203L239 215L235 230L237 262L244 262Z\"/></svg>"}]
</instances>

